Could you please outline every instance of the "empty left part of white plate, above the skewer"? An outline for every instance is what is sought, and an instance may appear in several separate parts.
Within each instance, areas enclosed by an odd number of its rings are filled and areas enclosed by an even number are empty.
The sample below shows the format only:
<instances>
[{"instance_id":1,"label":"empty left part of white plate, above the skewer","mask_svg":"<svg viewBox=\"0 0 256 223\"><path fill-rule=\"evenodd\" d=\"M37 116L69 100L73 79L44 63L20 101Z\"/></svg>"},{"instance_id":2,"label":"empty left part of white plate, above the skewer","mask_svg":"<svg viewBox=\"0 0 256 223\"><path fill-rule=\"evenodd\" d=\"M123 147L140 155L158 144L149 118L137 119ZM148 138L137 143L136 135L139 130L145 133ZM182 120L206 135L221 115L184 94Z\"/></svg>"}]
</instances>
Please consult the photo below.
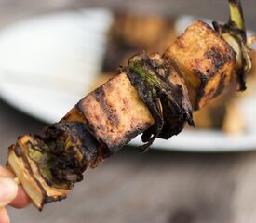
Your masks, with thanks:
<instances>
[{"instance_id":1,"label":"empty left part of white plate, above the skewer","mask_svg":"<svg viewBox=\"0 0 256 223\"><path fill-rule=\"evenodd\" d=\"M88 93L113 15L85 9L23 20L0 33L0 96L54 123Z\"/></svg>"}]
</instances>

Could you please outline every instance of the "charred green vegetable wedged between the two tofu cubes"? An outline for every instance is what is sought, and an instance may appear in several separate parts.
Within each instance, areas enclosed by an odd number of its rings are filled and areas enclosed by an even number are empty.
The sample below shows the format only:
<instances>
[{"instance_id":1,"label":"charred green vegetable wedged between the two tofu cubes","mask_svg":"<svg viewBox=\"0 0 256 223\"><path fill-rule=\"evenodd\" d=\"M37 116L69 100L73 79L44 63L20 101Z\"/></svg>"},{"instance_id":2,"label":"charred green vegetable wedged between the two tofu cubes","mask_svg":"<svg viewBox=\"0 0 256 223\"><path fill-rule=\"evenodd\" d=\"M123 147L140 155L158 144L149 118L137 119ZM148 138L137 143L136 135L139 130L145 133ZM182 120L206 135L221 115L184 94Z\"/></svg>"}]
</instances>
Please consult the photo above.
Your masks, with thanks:
<instances>
[{"instance_id":1,"label":"charred green vegetable wedged between the two tofu cubes","mask_svg":"<svg viewBox=\"0 0 256 223\"><path fill-rule=\"evenodd\" d=\"M179 134L186 122L194 125L188 92L168 60L164 61L156 53L151 57L142 53L129 59L126 71L155 119L155 125L142 135L142 141L147 142L141 147L142 151L157 137L168 139ZM171 76L176 76L179 84L169 80Z\"/></svg>"}]
</instances>

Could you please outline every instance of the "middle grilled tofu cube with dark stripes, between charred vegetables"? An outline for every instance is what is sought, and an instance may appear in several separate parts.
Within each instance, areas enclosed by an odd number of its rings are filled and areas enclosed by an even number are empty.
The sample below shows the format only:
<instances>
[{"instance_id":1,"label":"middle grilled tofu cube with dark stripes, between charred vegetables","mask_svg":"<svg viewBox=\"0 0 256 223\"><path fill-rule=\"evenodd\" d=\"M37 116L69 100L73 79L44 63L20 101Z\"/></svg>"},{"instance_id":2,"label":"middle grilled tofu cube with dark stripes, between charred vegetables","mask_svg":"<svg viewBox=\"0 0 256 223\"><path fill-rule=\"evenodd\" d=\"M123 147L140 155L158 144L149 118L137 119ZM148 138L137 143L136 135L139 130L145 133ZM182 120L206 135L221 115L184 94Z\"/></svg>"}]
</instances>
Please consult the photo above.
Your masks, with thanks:
<instances>
[{"instance_id":1,"label":"middle grilled tofu cube with dark stripes, between charred vegetables","mask_svg":"<svg viewBox=\"0 0 256 223\"><path fill-rule=\"evenodd\" d=\"M125 72L81 99L61 122L77 115L113 152L155 123Z\"/></svg>"}]
</instances>

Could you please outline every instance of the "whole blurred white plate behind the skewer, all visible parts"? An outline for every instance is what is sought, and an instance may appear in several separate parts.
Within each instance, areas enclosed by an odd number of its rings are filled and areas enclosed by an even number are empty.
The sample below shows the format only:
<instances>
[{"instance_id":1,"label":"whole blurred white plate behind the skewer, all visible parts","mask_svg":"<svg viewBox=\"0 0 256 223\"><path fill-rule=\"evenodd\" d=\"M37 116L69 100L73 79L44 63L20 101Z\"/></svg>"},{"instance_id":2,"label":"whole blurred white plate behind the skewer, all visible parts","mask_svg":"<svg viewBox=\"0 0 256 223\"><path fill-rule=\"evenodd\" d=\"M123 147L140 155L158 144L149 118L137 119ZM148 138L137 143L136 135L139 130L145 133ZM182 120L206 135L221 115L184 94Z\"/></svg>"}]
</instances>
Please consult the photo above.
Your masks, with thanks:
<instances>
[{"instance_id":1,"label":"whole blurred white plate behind the skewer, all visible parts","mask_svg":"<svg viewBox=\"0 0 256 223\"><path fill-rule=\"evenodd\" d=\"M192 17L176 23L182 33ZM104 22L102 22L104 21ZM0 33L0 96L34 117L55 123L88 93L101 70L106 33L113 15L106 9L61 12L20 21ZM256 97L241 101L247 131L187 131L153 148L177 151L256 149ZM135 138L131 145L141 145Z\"/></svg>"}]
</instances>

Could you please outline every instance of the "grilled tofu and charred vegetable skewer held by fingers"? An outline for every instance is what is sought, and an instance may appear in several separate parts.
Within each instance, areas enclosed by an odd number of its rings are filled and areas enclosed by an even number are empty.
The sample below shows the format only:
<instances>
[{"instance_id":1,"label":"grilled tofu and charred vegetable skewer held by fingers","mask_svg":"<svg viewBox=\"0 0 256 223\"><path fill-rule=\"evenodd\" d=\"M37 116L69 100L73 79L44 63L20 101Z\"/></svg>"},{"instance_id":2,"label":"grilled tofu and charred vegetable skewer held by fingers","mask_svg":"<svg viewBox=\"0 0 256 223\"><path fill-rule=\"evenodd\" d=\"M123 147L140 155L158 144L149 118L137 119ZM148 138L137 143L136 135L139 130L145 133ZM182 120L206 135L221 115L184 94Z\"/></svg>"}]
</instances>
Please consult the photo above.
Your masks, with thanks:
<instances>
[{"instance_id":1,"label":"grilled tofu and charred vegetable skewer held by fingers","mask_svg":"<svg viewBox=\"0 0 256 223\"><path fill-rule=\"evenodd\" d=\"M192 113L222 93L236 70L236 52L222 36L195 21L163 56L145 52L82 98L59 123L24 135L9 147L7 166L34 205L60 201L95 167L142 133L146 151L170 138Z\"/></svg>"}]
</instances>

